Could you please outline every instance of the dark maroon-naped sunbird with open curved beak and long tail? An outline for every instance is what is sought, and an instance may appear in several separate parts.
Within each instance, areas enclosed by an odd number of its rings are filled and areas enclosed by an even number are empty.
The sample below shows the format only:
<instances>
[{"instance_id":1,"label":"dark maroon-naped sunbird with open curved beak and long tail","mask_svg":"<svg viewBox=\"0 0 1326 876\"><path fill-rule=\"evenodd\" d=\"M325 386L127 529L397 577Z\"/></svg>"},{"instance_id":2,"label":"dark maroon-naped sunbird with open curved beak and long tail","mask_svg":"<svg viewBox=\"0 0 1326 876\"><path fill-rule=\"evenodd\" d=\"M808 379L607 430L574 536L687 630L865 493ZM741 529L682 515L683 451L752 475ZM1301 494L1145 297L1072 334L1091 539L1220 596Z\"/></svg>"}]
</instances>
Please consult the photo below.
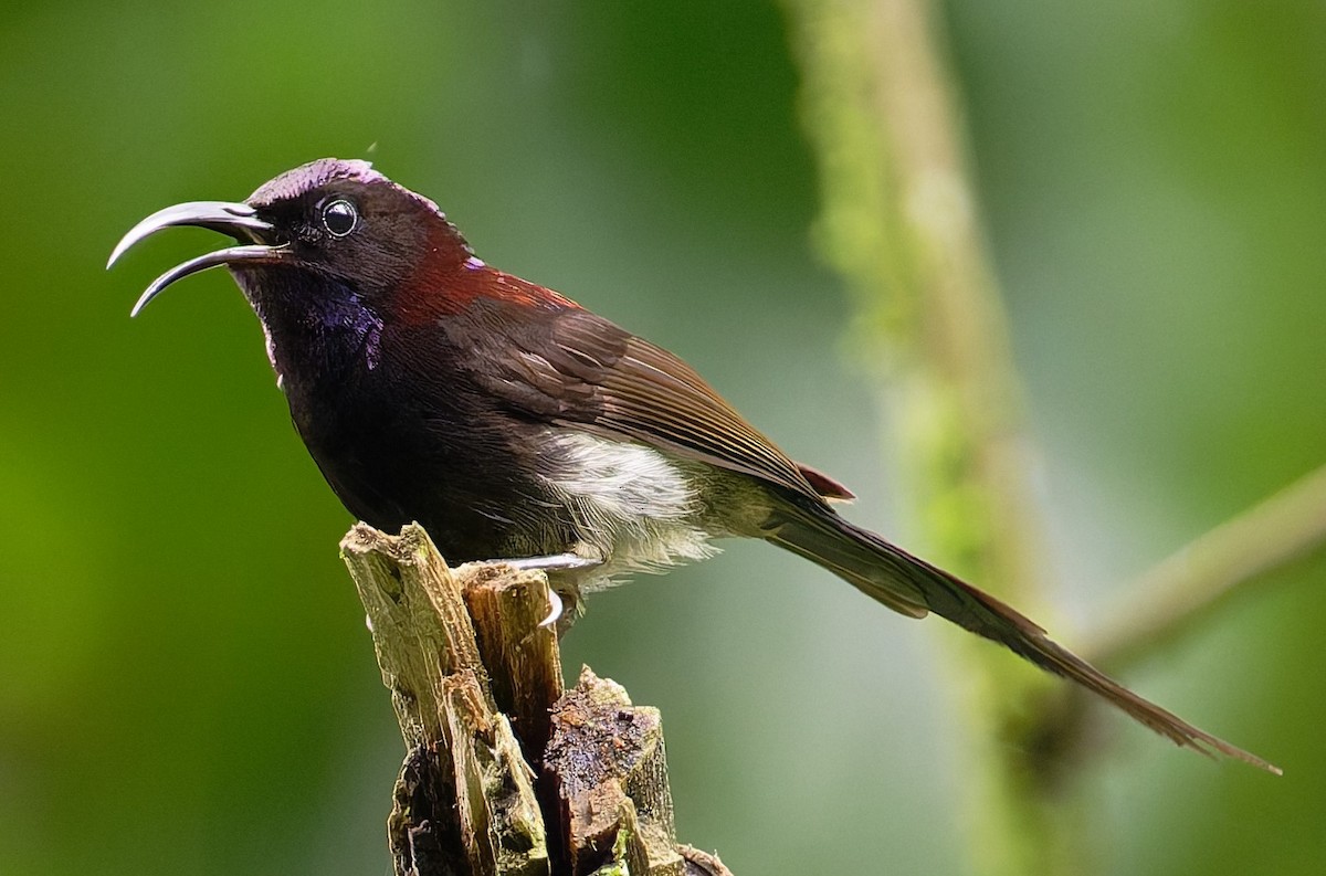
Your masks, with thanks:
<instances>
[{"instance_id":1,"label":"dark maroon-naped sunbird with open curved beak and long tail","mask_svg":"<svg viewBox=\"0 0 1326 876\"><path fill-rule=\"evenodd\" d=\"M314 463L378 529L418 521L450 562L548 570L577 611L581 590L704 559L716 539L762 539L895 612L934 612L1004 645L1181 747L1280 773L847 521L835 505L851 490L788 457L680 358L488 265L432 200L367 162L320 159L244 201L160 209L107 268L182 225L235 245L160 274L131 315L227 268Z\"/></svg>"}]
</instances>

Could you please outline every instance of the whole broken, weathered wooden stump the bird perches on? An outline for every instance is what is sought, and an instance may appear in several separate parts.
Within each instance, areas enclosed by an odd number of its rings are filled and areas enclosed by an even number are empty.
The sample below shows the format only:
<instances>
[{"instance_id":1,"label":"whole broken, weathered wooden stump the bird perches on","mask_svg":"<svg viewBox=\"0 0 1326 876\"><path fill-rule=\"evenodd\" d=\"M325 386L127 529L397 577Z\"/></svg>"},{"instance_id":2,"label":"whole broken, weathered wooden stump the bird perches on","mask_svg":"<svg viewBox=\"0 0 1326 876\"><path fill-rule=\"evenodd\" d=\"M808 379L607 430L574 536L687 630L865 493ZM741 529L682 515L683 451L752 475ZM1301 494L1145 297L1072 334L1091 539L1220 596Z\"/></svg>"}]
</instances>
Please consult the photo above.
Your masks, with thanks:
<instances>
[{"instance_id":1,"label":"whole broken, weathered wooden stump the bird perches on","mask_svg":"<svg viewBox=\"0 0 1326 876\"><path fill-rule=\"evenodd\" d=\"M542 573L451 570L416 525L341 554L406 741L398 876L731 876L676 843L658 710L587 667L562 693Z\"/></svg>"}]
</instances>

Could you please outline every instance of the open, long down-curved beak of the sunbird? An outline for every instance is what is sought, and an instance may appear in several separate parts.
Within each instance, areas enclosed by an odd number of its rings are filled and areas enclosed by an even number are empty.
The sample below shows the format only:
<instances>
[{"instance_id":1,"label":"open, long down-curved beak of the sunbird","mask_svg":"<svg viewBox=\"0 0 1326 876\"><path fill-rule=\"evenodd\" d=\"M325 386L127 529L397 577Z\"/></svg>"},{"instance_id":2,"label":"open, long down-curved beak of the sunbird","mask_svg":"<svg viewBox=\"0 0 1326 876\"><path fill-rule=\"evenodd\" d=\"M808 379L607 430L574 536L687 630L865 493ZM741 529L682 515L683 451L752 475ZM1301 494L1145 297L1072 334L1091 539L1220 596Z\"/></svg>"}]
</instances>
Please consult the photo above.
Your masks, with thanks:
<instances>
[{"instance_id":1,"label":"open, long down-curved beak of the sunbird","mask_svg":"<svg viewBox=\"0 0 1326 876\"><path fill-rule=\"evenodd\" d=\"M125 235L115 250L110 253L109 269L130 246L139 240L155 235L163 228L175 225L195 225L198 228L211 228L223 235L229 235L241 241L239 246L227 246L196 258L175 265L160 277L154 280L146 292L138 298L138 303L130 311L137 317L138 311L147 306L147 302L176 280L196 274L217 265L260 264L269 265L282 260L288 252L284 244L276 241L276 229L267 221L257 217L257 213L248 204L231 204L216 200L199 200L187 204L175 204L166 209L159 209ZM243 243L248 241L248 243Z\"/></svg>"}]
</instances>

